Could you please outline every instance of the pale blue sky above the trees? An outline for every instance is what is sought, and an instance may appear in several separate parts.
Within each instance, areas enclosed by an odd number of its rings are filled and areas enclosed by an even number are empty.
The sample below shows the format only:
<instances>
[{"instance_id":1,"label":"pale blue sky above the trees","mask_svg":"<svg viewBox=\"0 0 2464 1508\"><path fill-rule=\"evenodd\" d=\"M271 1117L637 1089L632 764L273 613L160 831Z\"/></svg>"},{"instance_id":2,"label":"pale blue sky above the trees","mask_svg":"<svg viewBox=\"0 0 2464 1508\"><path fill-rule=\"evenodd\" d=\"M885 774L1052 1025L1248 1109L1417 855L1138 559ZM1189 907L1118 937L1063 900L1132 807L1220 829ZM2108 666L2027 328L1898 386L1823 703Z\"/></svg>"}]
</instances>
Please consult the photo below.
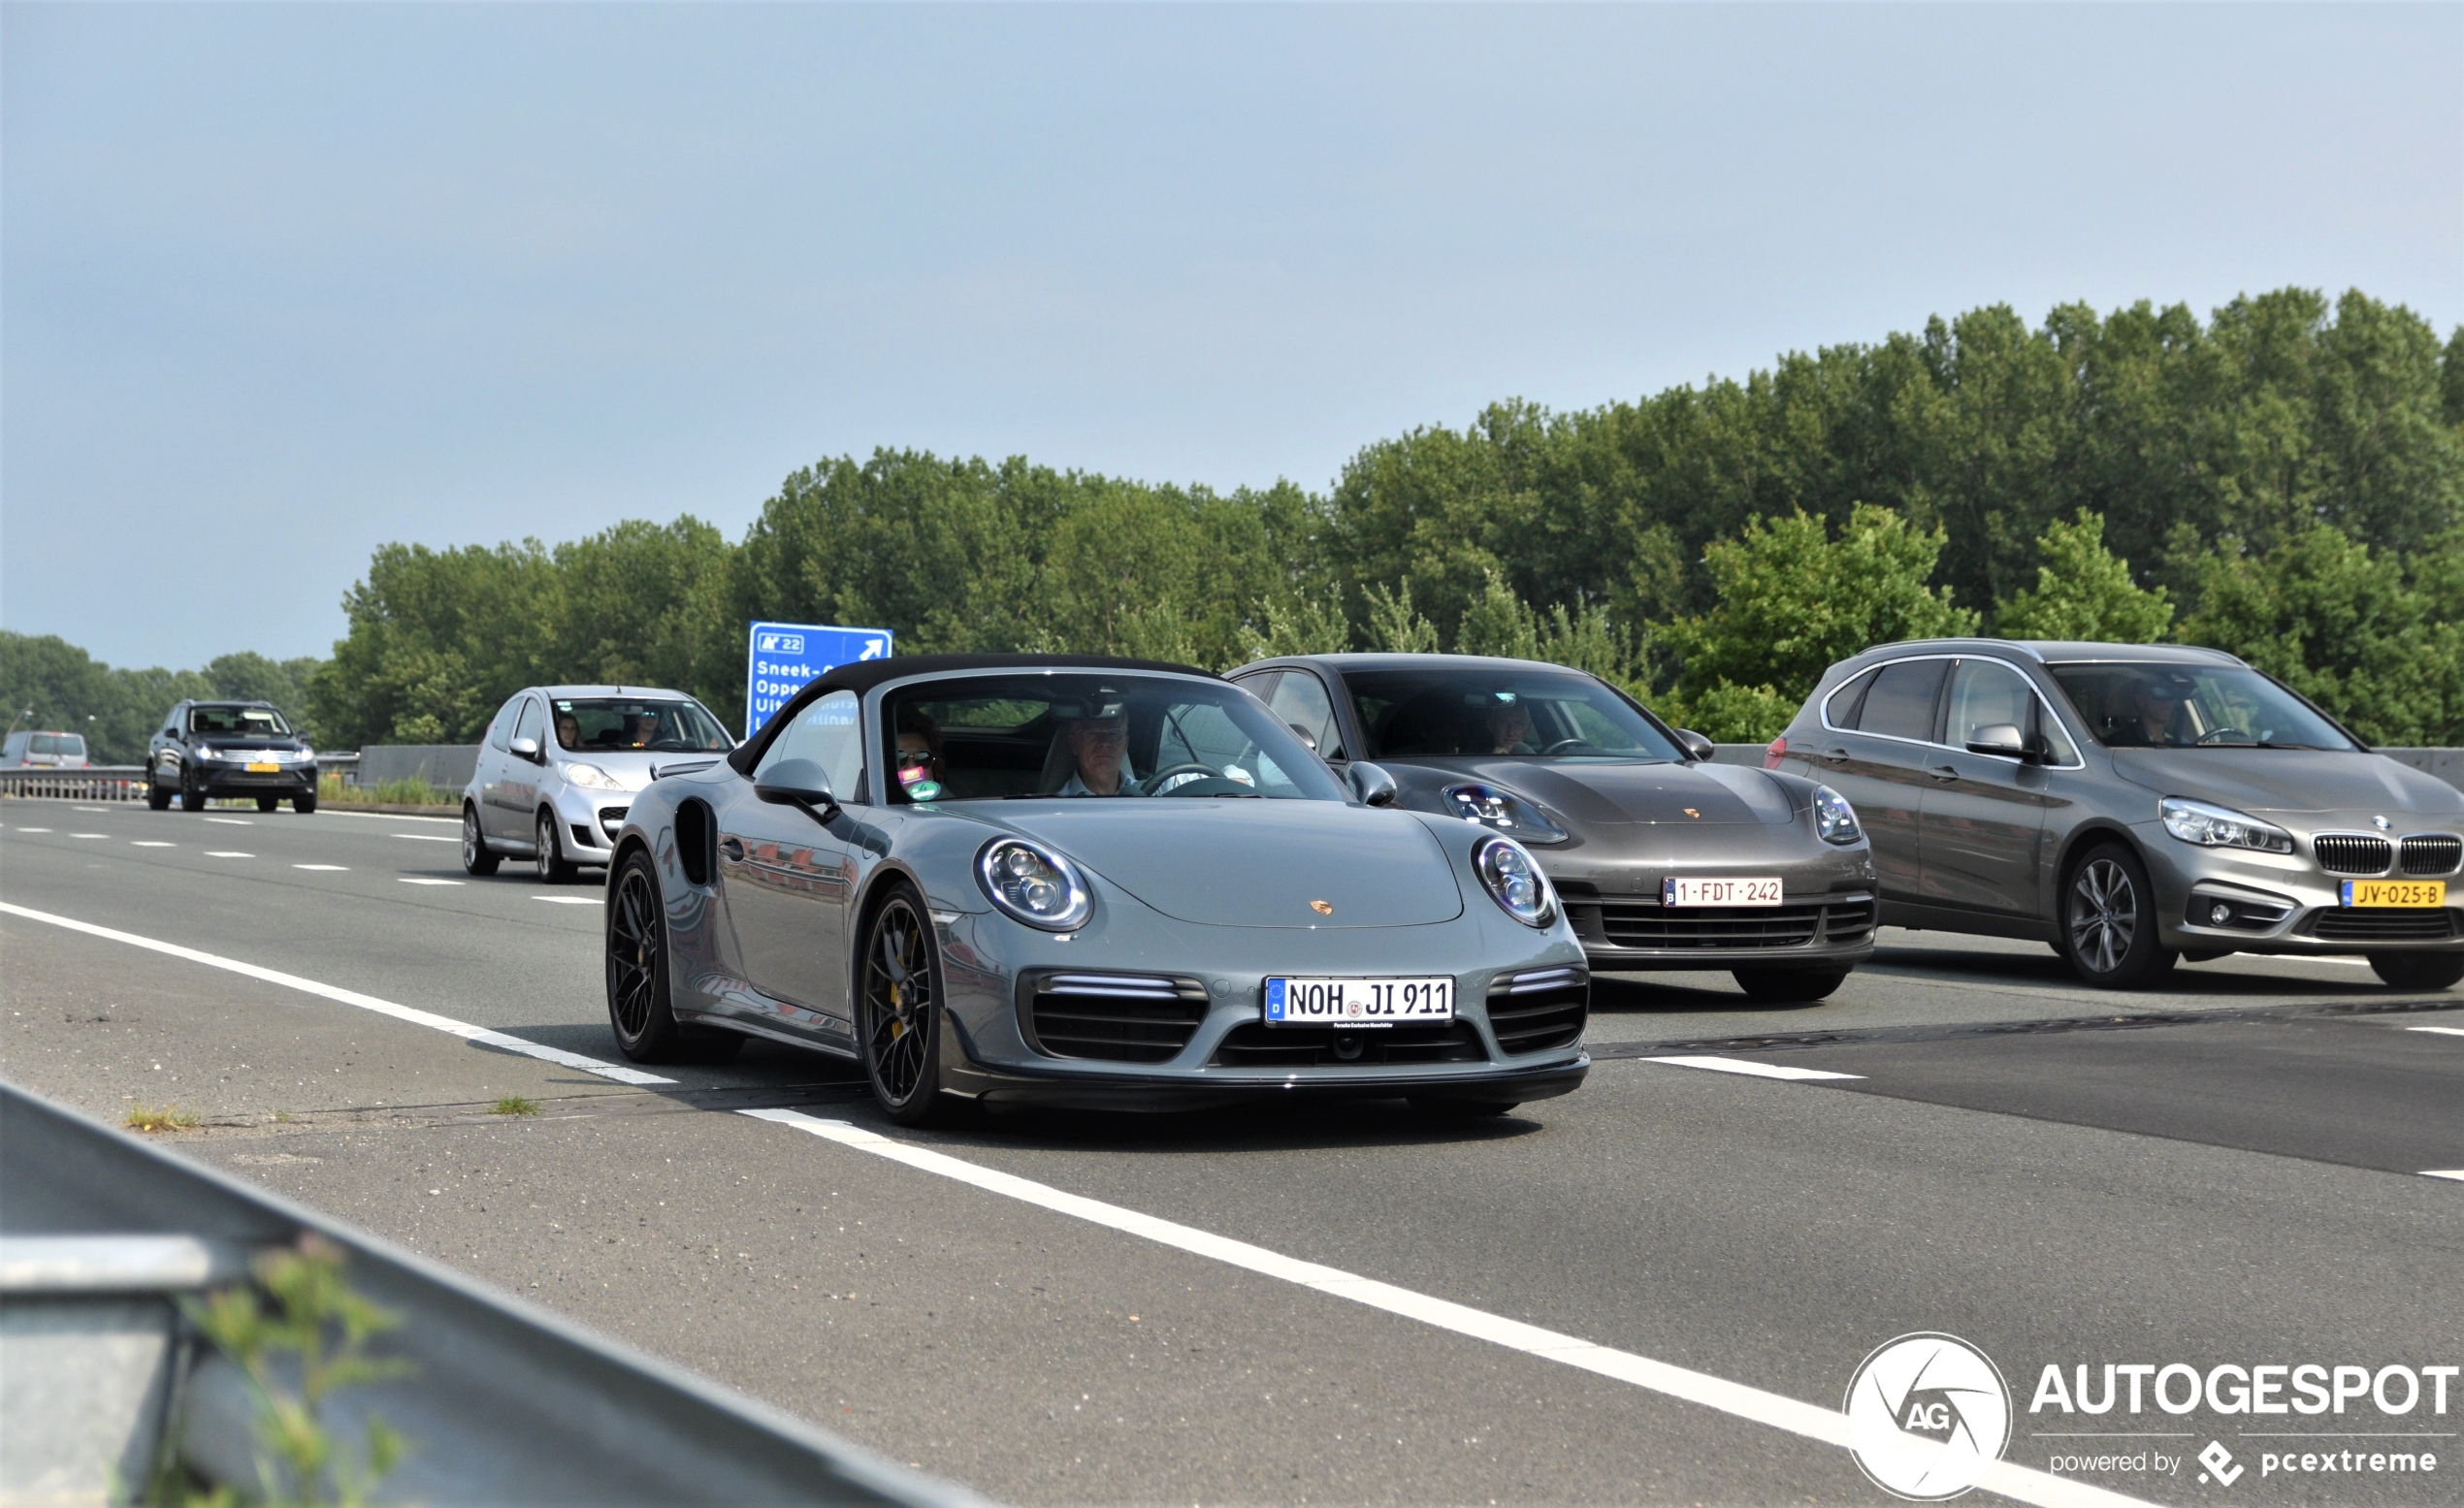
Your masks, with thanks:
<instances>
[{"instance_id":1,"label":"pale blue sky above the trees","mask_svg":"<svg viewBox=\"0 0 2464 1508\"><path fill-rule=\"evenodd\" d=\"M1932 313L2464 318L2457 5L0 10L0 626L325 653L382 540L821 456L1323 488Z\"/></svg>"}]
</instances>

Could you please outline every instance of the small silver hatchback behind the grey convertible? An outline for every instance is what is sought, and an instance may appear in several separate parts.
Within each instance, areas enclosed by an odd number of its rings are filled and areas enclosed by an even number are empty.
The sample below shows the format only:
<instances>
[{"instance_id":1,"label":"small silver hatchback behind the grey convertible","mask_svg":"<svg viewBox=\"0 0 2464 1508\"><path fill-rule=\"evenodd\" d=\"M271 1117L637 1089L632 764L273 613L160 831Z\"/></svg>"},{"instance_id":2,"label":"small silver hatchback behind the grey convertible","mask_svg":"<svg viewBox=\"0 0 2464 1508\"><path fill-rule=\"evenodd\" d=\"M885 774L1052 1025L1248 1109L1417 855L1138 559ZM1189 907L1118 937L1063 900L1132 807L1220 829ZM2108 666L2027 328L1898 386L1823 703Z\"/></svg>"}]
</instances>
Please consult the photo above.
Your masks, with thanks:
<instances>
[{"instance_id":1,"label":"small silver hatchback behind the grey convertible","mask_svg":"<svg viewBox=\"0 0 2464 1508\"><path fill-rule=\"evenodd\" d=\"M606 865L633 796L663 774L717 764L737 742L685 692L638 685L532 685L488 724L463 786L463 870L508 855L562 885Z\"/></svg>"}]
</instances>

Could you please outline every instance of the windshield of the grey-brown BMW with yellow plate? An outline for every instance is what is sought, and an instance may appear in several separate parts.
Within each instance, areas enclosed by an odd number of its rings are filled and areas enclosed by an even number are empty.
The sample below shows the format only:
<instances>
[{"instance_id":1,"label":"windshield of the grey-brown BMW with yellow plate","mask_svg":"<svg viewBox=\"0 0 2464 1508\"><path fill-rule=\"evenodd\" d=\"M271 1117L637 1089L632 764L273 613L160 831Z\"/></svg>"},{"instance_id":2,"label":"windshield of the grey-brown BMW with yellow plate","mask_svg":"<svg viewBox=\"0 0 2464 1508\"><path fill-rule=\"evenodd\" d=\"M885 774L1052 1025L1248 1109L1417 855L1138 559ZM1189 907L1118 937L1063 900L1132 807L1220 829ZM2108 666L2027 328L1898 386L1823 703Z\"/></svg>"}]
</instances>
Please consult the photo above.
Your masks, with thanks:
<instances>
[{"instance_id":1,"label":"windshield of the grey-brown BMW with yellow plate","mask_svg":"<svg viewBox=\"0 0 2464 1508\"><path fill-rule=\"evenodd\" d=\"M2242 665L2048 665L2112 749L2351 749L2296 695Z\"/></svg>"}]
</instances>

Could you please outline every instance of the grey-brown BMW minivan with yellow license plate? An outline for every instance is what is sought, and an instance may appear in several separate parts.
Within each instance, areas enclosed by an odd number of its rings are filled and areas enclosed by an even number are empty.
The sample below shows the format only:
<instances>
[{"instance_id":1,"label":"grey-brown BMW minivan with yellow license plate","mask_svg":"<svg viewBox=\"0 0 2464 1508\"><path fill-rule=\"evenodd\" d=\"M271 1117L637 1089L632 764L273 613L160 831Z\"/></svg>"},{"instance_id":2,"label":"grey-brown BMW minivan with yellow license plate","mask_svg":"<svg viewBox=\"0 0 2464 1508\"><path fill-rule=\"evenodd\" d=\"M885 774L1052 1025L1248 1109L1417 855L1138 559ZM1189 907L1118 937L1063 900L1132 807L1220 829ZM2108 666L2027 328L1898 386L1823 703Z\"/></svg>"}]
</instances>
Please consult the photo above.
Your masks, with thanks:
<instances>
[{"instance_id":1,"label":"grey-brown BMW minivan with yellow license plate","mask_svg":"<svg viewBox=\"0 0 2464 1508\"><path fill-rule=\"evenodd\" d=\"M2117 988L2223 954L2464 981L2464 791L2223 651L1878 646L1823 673L1764 766L1855 806L1885 926L2040 939Z\"/></svg>"}]
</instances>

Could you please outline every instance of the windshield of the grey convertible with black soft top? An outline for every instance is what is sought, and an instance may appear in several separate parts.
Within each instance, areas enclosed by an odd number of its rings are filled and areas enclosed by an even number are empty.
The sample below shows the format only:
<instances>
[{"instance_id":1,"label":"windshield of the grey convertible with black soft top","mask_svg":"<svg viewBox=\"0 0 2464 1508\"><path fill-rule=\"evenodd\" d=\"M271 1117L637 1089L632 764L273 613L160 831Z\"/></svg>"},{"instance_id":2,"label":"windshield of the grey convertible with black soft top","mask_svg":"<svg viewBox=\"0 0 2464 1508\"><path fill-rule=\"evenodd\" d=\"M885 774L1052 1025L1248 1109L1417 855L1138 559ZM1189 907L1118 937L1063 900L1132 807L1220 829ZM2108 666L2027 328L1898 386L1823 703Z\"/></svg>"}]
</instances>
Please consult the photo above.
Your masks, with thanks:
<instances>
[{"instance_id":1,"label":"windshield of the grey convertible with black soft top","mask_svg":"<svg viewBox=\"0 0 2464 1508\"><path fill-rule=\"evenodd\" d=\"M1343 784L1234 685L1018 673L934 680L882 705L890 801L1266 796L1343 801Z\"/></svg>"}]
</instances>

